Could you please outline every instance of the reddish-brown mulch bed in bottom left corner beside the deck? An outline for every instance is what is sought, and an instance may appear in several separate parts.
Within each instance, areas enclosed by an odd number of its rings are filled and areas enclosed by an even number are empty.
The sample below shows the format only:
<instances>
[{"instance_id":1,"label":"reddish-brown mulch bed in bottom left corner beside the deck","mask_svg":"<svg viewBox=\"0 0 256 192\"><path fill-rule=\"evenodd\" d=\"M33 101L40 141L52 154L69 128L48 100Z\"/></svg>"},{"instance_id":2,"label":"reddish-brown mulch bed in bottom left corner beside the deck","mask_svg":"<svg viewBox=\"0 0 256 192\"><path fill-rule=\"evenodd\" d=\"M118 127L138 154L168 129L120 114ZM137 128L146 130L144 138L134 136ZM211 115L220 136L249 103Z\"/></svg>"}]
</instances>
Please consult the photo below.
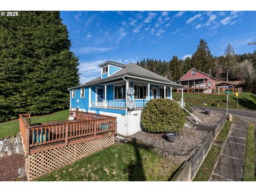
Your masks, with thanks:
<instances>
[{"instance_id":1,"label":"reddish-brown mulch bed in bottom left corner beside the deck","mask_svg":"<svg viewBox=\"0 0 256 192\"><path fill-rule=\"evenodd\" d=\"M14 181L18 179L18 170L25 165L23 155L13 154L0 158L0 181Z\"/></svg>"}]
</instances>

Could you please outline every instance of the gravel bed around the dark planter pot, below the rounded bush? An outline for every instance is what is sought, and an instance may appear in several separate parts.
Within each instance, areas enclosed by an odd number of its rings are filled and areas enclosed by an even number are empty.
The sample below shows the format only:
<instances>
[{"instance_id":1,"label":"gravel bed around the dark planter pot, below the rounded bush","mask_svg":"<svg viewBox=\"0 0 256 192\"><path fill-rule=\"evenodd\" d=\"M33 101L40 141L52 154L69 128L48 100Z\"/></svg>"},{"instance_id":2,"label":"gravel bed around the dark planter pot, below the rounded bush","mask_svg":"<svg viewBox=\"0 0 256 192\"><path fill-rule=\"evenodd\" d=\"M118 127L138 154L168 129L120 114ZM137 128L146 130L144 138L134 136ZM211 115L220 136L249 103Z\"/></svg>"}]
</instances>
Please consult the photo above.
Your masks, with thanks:
<instances>
[{"instance_id":1,"label":"gravel bed around the dark planter pot, below the rounded bush","mask_svg":"<svg viewBox=\"0 0 256 192\"><path fill-rule=\"evenodd\" d=\"M175 142L172 143L165 139L165 134L163 133L139 131L130 137L155 148L167 149L170 153L183 155L199 148L207 134L207 131L197 130L196 127L185 124L185 127L177 133Z\"/></svg>"}]
</instances>

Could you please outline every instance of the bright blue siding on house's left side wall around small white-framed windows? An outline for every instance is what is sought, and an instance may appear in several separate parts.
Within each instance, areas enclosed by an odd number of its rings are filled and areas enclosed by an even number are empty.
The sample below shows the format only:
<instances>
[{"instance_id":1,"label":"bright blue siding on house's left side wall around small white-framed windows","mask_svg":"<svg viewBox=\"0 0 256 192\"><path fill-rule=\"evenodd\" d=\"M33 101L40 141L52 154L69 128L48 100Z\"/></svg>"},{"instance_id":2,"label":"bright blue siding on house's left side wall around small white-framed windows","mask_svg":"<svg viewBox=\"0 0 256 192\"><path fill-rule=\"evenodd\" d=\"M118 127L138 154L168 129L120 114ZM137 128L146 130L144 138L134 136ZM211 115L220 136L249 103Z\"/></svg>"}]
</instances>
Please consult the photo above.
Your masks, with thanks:
<instances>
[{"instance_id":1,"label":"bright blue siding on house's left side wall around small white-framed windows","mask_svg":"<svg viewBox=\"0 0 256 192\"><path fill-rule=\"evenodd\" d=\"M70 90L70 97L72 90ZM71 98L71 108L89 109L89 87L84 87L84 98L81 98L81 88L75 89L75 98ZM77 102L78 100L78 102Z\"/></svg>"}]
</instances>

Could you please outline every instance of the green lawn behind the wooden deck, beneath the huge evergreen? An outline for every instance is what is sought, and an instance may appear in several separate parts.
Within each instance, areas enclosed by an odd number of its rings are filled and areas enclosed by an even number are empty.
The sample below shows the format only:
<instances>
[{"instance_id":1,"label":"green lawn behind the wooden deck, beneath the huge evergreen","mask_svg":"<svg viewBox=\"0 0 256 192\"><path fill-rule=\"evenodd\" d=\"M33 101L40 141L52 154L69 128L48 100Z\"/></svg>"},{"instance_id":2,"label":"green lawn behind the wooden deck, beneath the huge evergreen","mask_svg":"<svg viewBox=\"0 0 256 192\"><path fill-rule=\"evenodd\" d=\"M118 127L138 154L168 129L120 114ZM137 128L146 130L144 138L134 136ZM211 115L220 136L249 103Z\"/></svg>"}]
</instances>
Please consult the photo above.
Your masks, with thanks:
<instances>
[{"instance_id":1,"label":"green lawn behind the wooden deck, beneath the huge evergreen","mask_svg":"<svg viewBox=\"0 0 256 192\"><path fill-rule=\"evenodd\" d=\"M50 115L31 117L31 123L62 121L68 119L69 110L62 110ZM0 138L9 137L19 132L19 119L0 123Z\"/></svg>"}]
</instances>

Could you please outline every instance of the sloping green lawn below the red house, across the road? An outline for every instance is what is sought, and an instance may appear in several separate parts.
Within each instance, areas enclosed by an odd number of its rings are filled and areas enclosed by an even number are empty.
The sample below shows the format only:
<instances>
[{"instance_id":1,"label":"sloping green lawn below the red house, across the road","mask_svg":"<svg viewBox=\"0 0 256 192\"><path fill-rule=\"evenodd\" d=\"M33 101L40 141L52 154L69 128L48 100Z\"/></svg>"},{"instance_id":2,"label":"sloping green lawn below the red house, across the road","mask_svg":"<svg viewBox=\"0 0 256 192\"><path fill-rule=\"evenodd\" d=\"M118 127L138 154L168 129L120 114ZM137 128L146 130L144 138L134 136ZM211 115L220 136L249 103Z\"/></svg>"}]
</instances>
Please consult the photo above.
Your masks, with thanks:
<instances>
[{"instance_id":1,"label":"sloping green lawn below the red house, across the road","mask_svg":"<svg viewBox=\"0 0 256 192\"><path fill-rule=\"evenodd\" d=\"M251 93L247 99L248 93L239 93L238 107L239 109L251 109L256 110L256 94ZM173 93L173 99L175 101L181 100L181 93ZM183 99L188 106L203 106L202 102L207 103L207 107L218 107L218 101L220 108L226 108L227 95L218 94L183 94ZM229 108L237 109L236 95L229 94Z\"/></svg>"}]
</instances>

